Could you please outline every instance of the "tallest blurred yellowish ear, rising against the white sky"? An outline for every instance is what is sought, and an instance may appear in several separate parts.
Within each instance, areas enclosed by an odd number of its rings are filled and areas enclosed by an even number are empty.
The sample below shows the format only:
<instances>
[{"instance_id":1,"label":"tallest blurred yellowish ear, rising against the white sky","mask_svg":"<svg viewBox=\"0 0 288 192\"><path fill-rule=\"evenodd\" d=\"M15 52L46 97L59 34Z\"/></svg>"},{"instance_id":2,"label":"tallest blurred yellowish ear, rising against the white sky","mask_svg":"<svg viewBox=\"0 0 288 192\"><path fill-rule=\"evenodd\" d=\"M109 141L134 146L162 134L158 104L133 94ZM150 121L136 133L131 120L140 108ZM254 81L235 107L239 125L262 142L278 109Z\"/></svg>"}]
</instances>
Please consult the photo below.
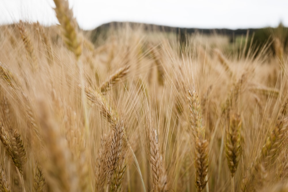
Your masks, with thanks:
<instances>
[{"instance_id":1,"label":"tallest blurred yellowish ear, rising against the white sky","mask_svg":"<svg viewBox=\"0 0 288 192\"><path fill-rule=\"evenodd\" d=\"M78 24L73 18L73 12L69 9L69 3L67 0L54 0L56 8L56 17L61 26L61 32L63 39L77 60L82 54L82 39L78 33Z\"/></svg>"}]
</instances>

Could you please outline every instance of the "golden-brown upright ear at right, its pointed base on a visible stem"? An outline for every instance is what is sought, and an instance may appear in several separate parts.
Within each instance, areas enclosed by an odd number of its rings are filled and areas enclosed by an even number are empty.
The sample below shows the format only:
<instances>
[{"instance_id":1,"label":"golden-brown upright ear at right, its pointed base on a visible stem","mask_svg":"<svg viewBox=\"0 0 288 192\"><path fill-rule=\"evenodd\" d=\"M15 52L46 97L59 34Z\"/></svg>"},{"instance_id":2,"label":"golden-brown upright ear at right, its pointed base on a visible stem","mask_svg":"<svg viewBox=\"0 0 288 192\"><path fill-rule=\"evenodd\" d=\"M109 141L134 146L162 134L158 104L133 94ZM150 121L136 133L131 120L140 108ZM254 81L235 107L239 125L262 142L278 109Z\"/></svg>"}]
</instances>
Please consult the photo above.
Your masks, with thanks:
<instances>
[{"instance_id":1,"label":"golden-brown upright ear at right, its pointed base on a visible stem","mask_svg":"<svg viewBox=\"0 0 288 192\"><path fill-rule=\"evenodd\" d=\"M241 118L240 115L232 115L230 117L230 127L226 134L226 157L228 167L233 177L240 159L241 153Z\"/></svg>"}]
</instances>

